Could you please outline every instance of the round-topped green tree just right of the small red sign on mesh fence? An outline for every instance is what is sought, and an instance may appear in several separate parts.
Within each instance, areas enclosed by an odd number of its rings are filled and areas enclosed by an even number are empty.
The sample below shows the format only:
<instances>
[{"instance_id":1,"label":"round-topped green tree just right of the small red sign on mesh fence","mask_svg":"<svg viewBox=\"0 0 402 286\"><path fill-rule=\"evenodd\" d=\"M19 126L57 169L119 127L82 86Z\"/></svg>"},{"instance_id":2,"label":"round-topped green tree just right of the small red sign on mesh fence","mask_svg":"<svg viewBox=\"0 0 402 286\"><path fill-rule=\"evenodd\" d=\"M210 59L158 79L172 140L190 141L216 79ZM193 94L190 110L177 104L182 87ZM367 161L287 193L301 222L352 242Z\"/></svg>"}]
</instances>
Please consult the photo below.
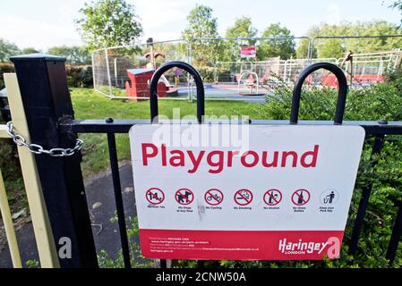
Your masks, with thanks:
<instances>
[{"instance_id":1,"label":"round-topped green tree just right of the small red sign on mesh fence","mask_svg":"<svg viewBox=\"0 0 402 286\"><path fill-rule=\"evenodd\" d=\"M267 57L280 56L287 60L295 55L295 40L289 29L282 27L280 23L270 24L262 32L261 38L284 38L261 40L257 49L257 57L264 60Z\"/></svg>"}]
</instances>

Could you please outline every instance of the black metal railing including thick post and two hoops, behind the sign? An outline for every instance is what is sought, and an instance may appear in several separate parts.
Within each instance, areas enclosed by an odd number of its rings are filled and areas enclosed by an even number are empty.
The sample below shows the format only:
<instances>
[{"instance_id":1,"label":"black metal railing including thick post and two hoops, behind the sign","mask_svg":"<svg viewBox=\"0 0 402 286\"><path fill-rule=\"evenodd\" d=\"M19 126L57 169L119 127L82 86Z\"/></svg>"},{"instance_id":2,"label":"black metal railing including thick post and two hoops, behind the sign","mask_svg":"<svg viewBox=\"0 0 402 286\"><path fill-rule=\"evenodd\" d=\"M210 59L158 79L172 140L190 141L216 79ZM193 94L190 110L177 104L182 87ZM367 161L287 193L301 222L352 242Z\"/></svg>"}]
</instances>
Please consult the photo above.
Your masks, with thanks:
<instances>
[{"instance_id":1,"label":"black metal railing including thick post and two hoops, behind the sign","mask_svg":"<svg viewBox=\"0 0 402 286\"><path fill-rule=\"evenodd\" d=\"M158 80L164 71L171 68L183 68L194 74L191 66L185 63L167 63L156 72L155 78L150 82L150 114L151 120L75 120L73 105L67 88L67 80L64 72L64 59L58 57L24 57L13 59L15 65L23 109L30 132L30 142L40 144L42 148L71 148L80 133L107 134L108 152L113 177L115 194L115 206L119 222L121 244L124 254L125 267L131 267L127 232L125 226L124 206L122 201L122 189L119 178L118 158L115 145L116 133L127 133L135 124L150 124L158 115ZM313 71L326 69L335 73L340 84L338 103L334 122L327 121L298 121L300 92L304 80L308 79ZM204 114L203 84L200 78L194 78L197 93L197 116L201 122ZM299 75L294 89L290 122L288 121L254 121L256 125L332 125L343 124L362 126L366 139L374 139L372 156L381 153L381 148L387 135L402 135L402 122L343 122L343 114L346 105L346 77L337 66L329 63L315 63L310 65ZM46 112L44 112L46 111ZM41 116L38 117L38 112ZM17 120L13 117L13 121ZM207 122L214 123L214 122ZM85 143L84 143L85 144ZM79 150L48 156L36 151L35 163L38 170L38 178L43 189L43 197L46 202L47 213L53 233L54 241L69 237L72 240L72 258L59 258L62 267L98 267L97 254L94 246L94 238L90 227L90 214L85 198L85 187L81 174L81 154ZM65 150L65 149L63 149ZM27 151L27 150L26 150ZM65 153L65 152L64 152ZM372 160L372 166L377 164ZM112 190L111 190L112 191ZM368 201L372 192L372 183L364 186L362 197L358 204L353 233L350 242L350 253L359 251L359 237L364 227ZM398 207L398 214L394 220L394 227L389 239L386 257L392 262L398 251L398 242L402 233L402 206ZM400 251L400 249L399 249ZM161 261L166 266L166 261ZM202 265L199 262L198 265Z\"/></svg>"}]
</instances>

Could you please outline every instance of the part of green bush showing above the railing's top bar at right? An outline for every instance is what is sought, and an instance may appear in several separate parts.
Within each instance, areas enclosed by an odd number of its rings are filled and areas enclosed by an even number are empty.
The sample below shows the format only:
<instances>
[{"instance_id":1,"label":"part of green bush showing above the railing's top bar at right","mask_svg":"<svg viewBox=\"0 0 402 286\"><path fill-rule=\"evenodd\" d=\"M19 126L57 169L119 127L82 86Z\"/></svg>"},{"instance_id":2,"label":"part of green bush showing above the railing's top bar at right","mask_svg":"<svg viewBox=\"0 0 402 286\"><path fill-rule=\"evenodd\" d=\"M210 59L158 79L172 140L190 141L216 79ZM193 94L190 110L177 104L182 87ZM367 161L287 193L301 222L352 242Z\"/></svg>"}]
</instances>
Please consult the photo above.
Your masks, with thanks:
<instances>
[{"instance_id":1,"label":"part of green bush showing above the railing's top bar at right","mask_svg":"<svg viewBox=\"0 0 402 286\"><path fill-rule=\"evenodd\" d=\"M332 88L309 87L300 102L299 120L333 120L338 91ZM402 80L384 82L367 88L356 88L347 94L344 120L402 120ZM275 89L260 107L266 119L287 120L290 116L292 90L287 86Z\"/></svg>"}]
</instances>

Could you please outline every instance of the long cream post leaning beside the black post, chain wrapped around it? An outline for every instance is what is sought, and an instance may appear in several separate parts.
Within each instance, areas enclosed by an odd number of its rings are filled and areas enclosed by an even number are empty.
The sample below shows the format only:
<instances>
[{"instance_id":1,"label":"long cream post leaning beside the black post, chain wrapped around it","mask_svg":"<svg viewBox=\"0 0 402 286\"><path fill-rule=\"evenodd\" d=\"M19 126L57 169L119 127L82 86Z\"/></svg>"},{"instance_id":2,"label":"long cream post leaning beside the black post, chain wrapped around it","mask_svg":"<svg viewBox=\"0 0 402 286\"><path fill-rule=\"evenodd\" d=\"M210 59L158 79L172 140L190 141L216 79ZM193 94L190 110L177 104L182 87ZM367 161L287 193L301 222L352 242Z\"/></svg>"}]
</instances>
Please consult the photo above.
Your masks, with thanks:
<instances>
[{"instance_id":1,"label":"long cream post leaning beside the black post, chain wrapped around it","mask_svg":"<svg viewBox=\"0 0 402 286\"><path fill-rule=\"evenodd\" d=\"M16 74L4 73L4 83L7 89L14 129L27 139L27 142L30 142L30 133ZM38 179L38 170L34 155L30 153L27 147L18 147L18 154L20 156L22 177L30 205L30 216L37 241L40 265L43 268L58 268L60 265L55 240L53 239L48 220L47 208L42 194L42 186Z\"/></svg>"}]
</instances>

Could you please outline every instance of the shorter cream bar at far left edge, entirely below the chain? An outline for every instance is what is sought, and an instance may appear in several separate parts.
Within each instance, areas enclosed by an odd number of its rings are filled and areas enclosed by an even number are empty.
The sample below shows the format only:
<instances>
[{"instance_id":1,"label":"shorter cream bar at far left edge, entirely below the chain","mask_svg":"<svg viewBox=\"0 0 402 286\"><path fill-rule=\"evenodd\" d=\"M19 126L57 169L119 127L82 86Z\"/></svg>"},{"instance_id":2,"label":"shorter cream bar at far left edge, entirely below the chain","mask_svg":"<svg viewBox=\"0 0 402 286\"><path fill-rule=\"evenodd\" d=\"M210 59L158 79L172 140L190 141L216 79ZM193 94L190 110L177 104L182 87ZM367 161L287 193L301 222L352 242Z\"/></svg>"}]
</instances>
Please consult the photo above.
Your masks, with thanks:
<instances>
[{"instance_id":1,"label":"shorter cream bar at far left edge, entirely below the chain","mask_svg":"<svg viewBox=\"0 0 402 286\"><path fill-rule=\"evenodd\" d=\"M0 212L2 214L5 235L7 237L8 248L13 261L14 268L22 268L20 249L18 248L17 237L15 236L13 217L8 205L7 194L5 193L3 175L0 171Z\"/></svg>"}]
</instances>

